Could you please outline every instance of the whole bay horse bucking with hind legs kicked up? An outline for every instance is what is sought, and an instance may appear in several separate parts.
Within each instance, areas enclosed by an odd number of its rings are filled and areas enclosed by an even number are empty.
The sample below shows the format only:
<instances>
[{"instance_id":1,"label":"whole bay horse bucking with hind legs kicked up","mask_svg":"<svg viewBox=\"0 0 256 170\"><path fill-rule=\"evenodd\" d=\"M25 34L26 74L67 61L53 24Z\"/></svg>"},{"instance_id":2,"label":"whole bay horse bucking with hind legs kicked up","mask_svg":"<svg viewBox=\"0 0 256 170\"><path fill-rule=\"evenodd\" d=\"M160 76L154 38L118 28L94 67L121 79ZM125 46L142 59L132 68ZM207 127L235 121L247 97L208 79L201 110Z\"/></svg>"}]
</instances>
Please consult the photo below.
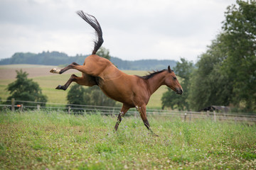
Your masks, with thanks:
<instances>
[{"instance_id":1,"label":"whole bay horse bucking with hind legs kicked up","mask_svg":"<svg viewBox=\"0 0 256 170\"><path fill-rule=\"evenodd\" d=\"M83 86L97 85L105 95L123 104L114 130L117 131L122 117L124 117L129 108L135 107L146 128L152 132L149 121L146 118L146 104L149 102L150 96L162 85L168 86L176 94L183 93L183 89L178 83L174 71L169 66L167 69L152 72L144 77L125 74L117 69L110 60L96 55L97 50L99 50L103 43L102 29L97 19L87 13L83 13L83 11L78 11L77 13L95 29L97 38L95 40L94 50L92 51L92 55L85 58L85 62L82 65L73 62L63 69L53 68L50 70L50 72L55 74L63 74L68 69L77 69L82 72L82 77L72 74L65 85L59 85L56 89L66 90L73 81ZM152 134L154 133L152 132Z\"/></svg>"}]
</instances>

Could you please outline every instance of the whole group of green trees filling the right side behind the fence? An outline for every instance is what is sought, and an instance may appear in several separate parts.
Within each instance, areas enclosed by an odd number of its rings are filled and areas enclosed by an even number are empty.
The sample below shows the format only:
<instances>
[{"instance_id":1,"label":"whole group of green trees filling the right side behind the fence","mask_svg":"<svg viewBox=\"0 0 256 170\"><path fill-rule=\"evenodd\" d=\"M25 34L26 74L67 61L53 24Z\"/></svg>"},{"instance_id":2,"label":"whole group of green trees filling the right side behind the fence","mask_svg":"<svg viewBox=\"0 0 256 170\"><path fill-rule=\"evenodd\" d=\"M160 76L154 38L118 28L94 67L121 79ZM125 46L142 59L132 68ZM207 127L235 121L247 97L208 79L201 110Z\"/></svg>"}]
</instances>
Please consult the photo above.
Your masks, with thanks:
<instances>
[{"instance_id":1,"label":"whole group of green trees filling the right side behind the fence","mask_svg":"<svg viewBox=\"0 0 256 170\"><path fill-rule=\"evenodd\" d=\"M161 98L163 107L200 111L220 105L256 112L256 1L228 6L221 32L196 66L182 58L174 71L184 93L169 90Z\"/></svg>"}]
</instances>

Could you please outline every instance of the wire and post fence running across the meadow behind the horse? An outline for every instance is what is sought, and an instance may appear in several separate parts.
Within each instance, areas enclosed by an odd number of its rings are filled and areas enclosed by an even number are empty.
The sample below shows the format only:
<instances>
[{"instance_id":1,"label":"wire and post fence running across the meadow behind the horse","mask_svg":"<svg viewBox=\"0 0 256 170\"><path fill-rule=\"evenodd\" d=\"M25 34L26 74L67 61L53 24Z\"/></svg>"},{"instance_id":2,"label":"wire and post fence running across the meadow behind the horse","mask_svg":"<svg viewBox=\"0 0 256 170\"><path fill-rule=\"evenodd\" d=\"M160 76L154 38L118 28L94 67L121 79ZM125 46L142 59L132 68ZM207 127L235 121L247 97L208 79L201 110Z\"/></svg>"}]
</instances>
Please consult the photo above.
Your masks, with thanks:
<instances>
[{"instance_id":1,"label":"wire and post fence running across the meadow behind the horse","mask_svg":"<svg viewBox=\"0 0 256 170\"><path fill-rule=\"evenodd\" d=\"M65 111L67 113L86 114L100 113L103 115L118 115L120 107L110 106L88 106L75 105L64 103L43 103L34 101L16 101L0 100L0 111L4 108L10 108L11 111L26 111L26 110L55 110ZM146 114L150 116L169 116L179 117L185 121L195 120L198 118L208 118L211 120L233 120L256 123L256 114L253 113L216 113L216 112L191 112L191 111L169 111L159 109L147 109ZM127 115L139 116L135 108L129 109Z\"/></svg>"}]
</instances>

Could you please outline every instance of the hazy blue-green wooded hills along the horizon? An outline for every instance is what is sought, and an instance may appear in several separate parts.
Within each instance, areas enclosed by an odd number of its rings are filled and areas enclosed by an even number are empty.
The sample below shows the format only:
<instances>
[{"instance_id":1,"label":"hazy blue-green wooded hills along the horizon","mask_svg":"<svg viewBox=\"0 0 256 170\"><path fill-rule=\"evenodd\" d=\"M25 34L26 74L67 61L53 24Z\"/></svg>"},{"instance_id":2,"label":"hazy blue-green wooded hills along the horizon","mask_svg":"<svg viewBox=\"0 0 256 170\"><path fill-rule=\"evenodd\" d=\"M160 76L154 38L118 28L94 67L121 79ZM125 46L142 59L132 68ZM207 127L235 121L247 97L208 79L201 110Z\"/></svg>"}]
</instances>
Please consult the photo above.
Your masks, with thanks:
<instances>
[{"instance_id":1,"label":"hazy blue-green wooded hills along the horizon","mask_svg":"<svg viewBox=\"0 0 256 170\"><path fill-rule=\"evenodd\" d=\"M72 62L82 64L85 57L88 55L76 55L70 57L63 52L41 52L38 54L31 52L16 52L11 58L0 60L0 65L3 64L43 64L43 65L66 65ZM128 61L122 60L118 57L111 57L113 62L119 69L131 70L156 70L166 69L168 65L174 67L176 61L174 60L136 60Z\"/></svg>"}]
</instances>

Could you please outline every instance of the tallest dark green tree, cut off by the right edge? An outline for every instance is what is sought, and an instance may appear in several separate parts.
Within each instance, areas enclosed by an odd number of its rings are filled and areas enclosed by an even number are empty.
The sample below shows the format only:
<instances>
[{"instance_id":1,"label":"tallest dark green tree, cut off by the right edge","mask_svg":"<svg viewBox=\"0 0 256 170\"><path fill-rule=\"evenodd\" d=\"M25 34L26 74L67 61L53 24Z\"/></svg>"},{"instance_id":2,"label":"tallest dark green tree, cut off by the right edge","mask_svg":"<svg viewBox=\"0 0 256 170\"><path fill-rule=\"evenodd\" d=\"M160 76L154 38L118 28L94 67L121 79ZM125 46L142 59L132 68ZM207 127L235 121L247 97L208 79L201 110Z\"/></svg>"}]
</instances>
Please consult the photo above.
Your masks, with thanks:
<instances>
[{"instance_id":1,"label":"tallest dark green tree, cut off by the right edge","mask_svg":"<svg viewBox=\"0 0 256 170\"><path fill-rule=\"evenodd\" d=\"M228 53L221 69L233 81L233 104L244 111L255 111L256 1L237 1L228 6L223 31Z\"/></svg>"}]
</instances>

